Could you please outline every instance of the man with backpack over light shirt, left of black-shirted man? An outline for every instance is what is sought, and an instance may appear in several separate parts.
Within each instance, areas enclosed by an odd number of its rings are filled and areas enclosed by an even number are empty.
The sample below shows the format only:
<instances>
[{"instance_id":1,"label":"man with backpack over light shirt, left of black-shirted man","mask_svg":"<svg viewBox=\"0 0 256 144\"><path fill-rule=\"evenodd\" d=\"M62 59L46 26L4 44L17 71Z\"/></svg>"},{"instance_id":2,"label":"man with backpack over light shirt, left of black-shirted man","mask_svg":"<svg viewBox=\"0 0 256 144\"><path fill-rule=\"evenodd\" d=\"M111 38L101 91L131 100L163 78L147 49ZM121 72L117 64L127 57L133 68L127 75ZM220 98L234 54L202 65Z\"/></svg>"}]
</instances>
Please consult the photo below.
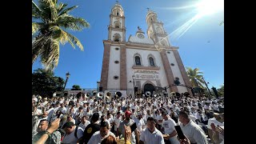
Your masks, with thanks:
<instances>
[{"instance_id":1,"label":"man with backpack over light shirt, left of black-shirted man","mask_svg":"<svg viewBox=\"0 0 256 144\"><path fill-rule=\"evenodd\" d=\"M74 122L66 122L62 129L66 132L62 138L62 143L77 144L82 140L82 128L75 126Z\"/></svg>"}]
</instances>

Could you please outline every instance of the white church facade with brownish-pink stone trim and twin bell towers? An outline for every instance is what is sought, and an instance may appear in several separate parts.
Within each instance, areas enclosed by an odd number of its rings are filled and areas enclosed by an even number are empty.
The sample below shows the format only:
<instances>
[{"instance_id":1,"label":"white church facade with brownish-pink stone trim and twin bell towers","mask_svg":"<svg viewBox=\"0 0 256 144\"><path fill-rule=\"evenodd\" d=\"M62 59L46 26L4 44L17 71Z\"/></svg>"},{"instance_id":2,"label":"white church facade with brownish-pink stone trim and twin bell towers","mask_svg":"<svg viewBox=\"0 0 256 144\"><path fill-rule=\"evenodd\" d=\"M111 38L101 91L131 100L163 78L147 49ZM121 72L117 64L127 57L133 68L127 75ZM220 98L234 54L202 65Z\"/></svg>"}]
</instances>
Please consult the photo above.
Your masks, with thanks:
<instances>
[{"instance_id":1,"label":"white church facade with brownish-pink stone trim and twin bell towers","mask_svg":"<svg viewBox=\"0 0 256 144\"><path fill-rule=\"evenodd\" d=\"M146 92L166 87L170 92L192 95L189 78L178 54L171 46L158 15L148 10L146 34L139 27L135 35L126 40L125 14L116 3L110 13L108 39L103 40L104 54L99 85L102 90L122 90L134 95L134 87ZM178 80L184 86L174 86Z\"/></svg>"}]
</instances>

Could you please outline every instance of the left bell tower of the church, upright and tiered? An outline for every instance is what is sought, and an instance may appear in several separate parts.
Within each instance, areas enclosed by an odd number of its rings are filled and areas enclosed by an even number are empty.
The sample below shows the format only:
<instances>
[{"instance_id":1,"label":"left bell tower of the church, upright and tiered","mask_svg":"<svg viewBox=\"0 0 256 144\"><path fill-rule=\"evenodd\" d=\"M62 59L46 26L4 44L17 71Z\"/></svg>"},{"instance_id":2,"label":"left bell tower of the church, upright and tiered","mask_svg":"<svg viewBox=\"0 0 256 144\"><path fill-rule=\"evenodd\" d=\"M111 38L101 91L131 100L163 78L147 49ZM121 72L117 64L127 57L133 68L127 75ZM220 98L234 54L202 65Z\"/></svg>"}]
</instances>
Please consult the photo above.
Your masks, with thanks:
<instances>
[{"instance_id":1,"label":"left bell tower of the church, upright and tiered","mask_svg":"<svg viewBox=\"0 0 256 144\"><path fill-rule=\"evenodd\" d=\"M108 30L108 40L114 42L126 42L125 15L122 6L118 1L111 10Z\"/></svg>"}]
</instances>

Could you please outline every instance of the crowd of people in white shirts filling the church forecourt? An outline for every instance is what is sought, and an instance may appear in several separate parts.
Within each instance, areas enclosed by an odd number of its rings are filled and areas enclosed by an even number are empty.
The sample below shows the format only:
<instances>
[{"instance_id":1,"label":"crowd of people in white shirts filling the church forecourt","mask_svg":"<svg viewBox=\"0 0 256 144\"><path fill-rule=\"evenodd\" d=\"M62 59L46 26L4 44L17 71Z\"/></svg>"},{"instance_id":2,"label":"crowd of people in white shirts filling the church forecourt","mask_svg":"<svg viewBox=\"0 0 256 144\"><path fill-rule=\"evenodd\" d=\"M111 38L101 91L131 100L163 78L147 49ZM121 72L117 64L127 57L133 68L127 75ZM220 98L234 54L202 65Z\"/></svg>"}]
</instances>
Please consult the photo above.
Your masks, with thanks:
<instances>
[{"instance_id":1,"label":"crowd of people in white shirts filling the church forecourt","mask_svg":"<svg viewBox=\"0 0 256 144\"><path fill-rule=\"evenodd\" d=\"M224 98L32 96L33 143L224 143ZM178 138L180 126L185 138Z\"/></svg>"}]
</instances>

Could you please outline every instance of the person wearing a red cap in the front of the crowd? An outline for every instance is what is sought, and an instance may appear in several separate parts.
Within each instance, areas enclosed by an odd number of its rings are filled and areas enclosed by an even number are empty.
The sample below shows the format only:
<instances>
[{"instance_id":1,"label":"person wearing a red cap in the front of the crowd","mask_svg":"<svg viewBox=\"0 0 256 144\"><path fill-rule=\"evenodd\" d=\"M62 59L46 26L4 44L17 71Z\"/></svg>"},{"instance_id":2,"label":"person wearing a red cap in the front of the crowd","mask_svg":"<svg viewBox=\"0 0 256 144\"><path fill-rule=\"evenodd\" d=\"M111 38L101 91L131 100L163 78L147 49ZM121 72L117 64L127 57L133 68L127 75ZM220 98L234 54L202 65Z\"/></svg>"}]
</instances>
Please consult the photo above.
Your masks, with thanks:
<instances>
[{"instance_id":1,"label":"person wearing a red cap in the front of the crowd","mask_svg":"<svg viewBox=\"0 0 256 144\"><path fill-rule=\"evenodd\" d=\"M132 126L134 124L134 120L130 118L131 114L132 113L127 110L125 112L125 119L120 123L120 125L118 127L118 134L122 134L122 137L124 137L124 135L125 135L125 126ZM137 131L137 130L134 130L134 131ZM132 136L130 139L131 144L136 143L134 131L132 132Z\"/></svg>"}]
</instances>

